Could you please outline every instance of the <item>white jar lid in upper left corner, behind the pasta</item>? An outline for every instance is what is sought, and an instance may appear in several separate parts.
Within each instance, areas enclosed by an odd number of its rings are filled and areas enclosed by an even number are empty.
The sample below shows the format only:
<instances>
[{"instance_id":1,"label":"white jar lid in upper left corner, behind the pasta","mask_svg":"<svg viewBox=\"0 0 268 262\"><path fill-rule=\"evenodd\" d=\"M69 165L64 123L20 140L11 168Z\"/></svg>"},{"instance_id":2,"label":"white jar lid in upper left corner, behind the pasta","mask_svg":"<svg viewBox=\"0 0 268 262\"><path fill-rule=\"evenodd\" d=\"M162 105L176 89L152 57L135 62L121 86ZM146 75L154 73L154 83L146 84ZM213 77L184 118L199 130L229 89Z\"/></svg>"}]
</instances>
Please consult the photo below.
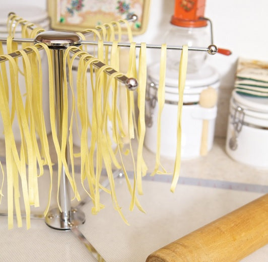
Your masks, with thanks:
<instances>
[{"instance_id":1,"label":"white jar lid in upper left corner, behind the pasta","mask_svg":"<svg viewBox=\"0 0 268 262\"><path fill-rule=\"evenodd\" d=\"M16 15L32 23L39 23L48 17L47 12L39 7L26 5L4 5L4 7L2 6L0 9L0 26L6 26L10 12L14 12Z\"/></svg>"}]
</instances>

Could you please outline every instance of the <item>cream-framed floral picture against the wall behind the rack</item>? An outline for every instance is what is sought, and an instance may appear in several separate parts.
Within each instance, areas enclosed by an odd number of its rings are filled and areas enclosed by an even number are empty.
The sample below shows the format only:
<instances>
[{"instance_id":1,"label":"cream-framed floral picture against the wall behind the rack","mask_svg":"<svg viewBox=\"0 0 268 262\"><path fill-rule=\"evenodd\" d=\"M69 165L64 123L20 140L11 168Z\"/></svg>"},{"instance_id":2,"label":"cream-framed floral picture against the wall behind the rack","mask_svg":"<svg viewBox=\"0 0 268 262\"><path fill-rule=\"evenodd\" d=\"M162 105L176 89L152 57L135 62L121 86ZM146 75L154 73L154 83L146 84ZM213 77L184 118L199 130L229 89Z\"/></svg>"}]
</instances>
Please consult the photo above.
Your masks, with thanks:
<instances>
[{"instance_id":1,"label":"cream-framed floral picture against the wall behind the rack","mask_svg":"<svg viewBox=\"0 0 268 262\"><path fill-rule=\"evenodd\" d=\"M150 0L48 0L51 29L81 32L97 25L127 19L134 35L145 33L148 26ZM124 29L122 29L124 32Z\"/></svg>"}]
</instances>

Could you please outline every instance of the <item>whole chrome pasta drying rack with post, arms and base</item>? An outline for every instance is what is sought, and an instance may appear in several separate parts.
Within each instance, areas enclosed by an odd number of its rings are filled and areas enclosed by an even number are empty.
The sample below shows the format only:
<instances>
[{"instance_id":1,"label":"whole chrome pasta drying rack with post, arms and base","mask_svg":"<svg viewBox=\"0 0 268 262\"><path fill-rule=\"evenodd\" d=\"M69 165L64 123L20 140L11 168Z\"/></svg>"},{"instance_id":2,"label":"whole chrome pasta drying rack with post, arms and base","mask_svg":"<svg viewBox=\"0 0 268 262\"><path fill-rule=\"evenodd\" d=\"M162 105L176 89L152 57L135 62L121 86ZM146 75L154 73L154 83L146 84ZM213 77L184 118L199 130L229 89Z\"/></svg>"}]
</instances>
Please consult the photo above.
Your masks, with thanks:
<instances>
[{"instance_id":1,"label":"whole chrome pasta drying rack with post, arms and base","mask_svg":"<svg viewBox=\"0 0 268 262\"><path fill-rule=\"evenodd\" d=\"M11 15L11 13L9 14ZM137 16L133 15L128 21L136 21ZM24 24L25 21L20 24ZM33 29L32 26L29 26L30 29ZM88 35L91 32L84 31L82 32L84 35ZM0 41L6 42L7 38L0 37ZM50 49L52 49L53 53L53 70L54 70L54 89L55 89L55 112L56 112L56 130L57 130L57 138L59 144L61 145L61 130L62 130L62 115L63 115L63 54L66 48L69 46L80 46L82 44L88 45L97 45L96 41L84 41L81 37L72 32L62 32L62 31L45 31L39 33L35 39L26 39L26 38L13 38L15 42L28 42L28 43L45 43ZM104 42L104 45L111 46L112 42ZM118 43L118 46L129 47L130 43ZM136 47L141 47L141 44L136 44ZM147 44L147 48L156 48L160 49L161 45ZM38 47L38 49L42 49L42 47ZM181 50L182 46L167 46L167 49L171 50ZM208 47L189 47L189 51L206 51L209 54L215 54L218 51L216 45L211 44ZM31 49L25 48L24 51L28 54L33 52ZM77 50L71 50L71 52L76 53ZM13 58L18 58L21 56L20 52L10 53ZM5 57L0 57L0 63L5 62L7 59ZM100 69L105 64L101 61L94 62L94 67ZM115 70L108 69L105 71L108 75L115 73ZM127 78L123 74L121 76L116 77L117 80L125 85L128 90L135 90L138 87L138 82L136 79ZM68 160L68 148L66 149L65 155ZM121 176L122 173L120 170L114 172L114 177ZM104 183L107 183L105 181ZM104 184L103 184L104 185ZM107 186L107 184L106 184ZM85 222L85 214L80 210L86 202L81 201L80 204L73 208L71 207L71 197L70 197L70 183L68 178L66 177L65 170L62 168L60 186L59 186L59 205L62 209L60 212L58 208L54 208L50 210L45 217L45 223L54 229L59 230L71 230L83 243L84 245L93 253L97 254L98 257L100 255L95 250L95 248L89 243L89 241L84 237L84 235L79 231L78 226ZM0 217L6 217L7 214L0 214ZM32 215L32 218L42 218L41 215Z\"/></svg>"}]
</instances>

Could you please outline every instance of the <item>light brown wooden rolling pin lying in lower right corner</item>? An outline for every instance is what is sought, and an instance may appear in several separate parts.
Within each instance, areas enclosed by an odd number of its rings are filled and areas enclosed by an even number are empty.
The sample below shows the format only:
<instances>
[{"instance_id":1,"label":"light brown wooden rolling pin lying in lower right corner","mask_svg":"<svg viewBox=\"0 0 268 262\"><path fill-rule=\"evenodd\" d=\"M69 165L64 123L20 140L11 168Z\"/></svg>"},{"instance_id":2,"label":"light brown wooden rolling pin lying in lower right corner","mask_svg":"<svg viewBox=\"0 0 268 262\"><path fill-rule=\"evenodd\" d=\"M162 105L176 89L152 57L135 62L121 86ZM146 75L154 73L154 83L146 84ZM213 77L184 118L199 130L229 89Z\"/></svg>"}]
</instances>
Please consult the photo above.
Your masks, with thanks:
<instances>
[{"instance_id":1,"label":"light brown wooden rolling pin lying in lower right corner","mask_svg":"<svg viewBox=\"0 0 268 262\"><path fill-rule=\"evenodd\" d=\"M268 194L160 248L146 262L239 261L268 243Z\"/></svg>"}]
</instances>

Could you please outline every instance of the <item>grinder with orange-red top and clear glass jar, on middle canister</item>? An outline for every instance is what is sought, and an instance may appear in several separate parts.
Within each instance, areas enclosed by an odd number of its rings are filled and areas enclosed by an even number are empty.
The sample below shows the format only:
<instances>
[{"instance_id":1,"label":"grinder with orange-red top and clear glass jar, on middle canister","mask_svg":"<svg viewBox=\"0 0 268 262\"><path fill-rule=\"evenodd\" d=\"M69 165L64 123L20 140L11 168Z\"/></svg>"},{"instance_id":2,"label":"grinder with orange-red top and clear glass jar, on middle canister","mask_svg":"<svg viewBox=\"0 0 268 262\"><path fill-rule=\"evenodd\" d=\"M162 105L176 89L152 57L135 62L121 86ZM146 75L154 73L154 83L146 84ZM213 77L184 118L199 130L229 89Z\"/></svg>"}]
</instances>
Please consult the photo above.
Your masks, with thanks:
<instances>
[{"instance_id":1,"label":"grinder with orange-red top and clear glass jar, on middle canister","mask_svg":"<svg viewBox=\"0 0 268 262\"><path fill-rule=\"evenodd\" d=\"M165 35L169 45L189 47L209 46L212 43L212 32L204 18L205 0L175 0L174 14L171 17L170 29ZM180 55L180 54L178 54ZM207 52L191 51L188 53L188 73L197 72L204 64ZM174 52L167 53L167 66L178 68L179 56Z\"/></svg>"}]
</instances>

